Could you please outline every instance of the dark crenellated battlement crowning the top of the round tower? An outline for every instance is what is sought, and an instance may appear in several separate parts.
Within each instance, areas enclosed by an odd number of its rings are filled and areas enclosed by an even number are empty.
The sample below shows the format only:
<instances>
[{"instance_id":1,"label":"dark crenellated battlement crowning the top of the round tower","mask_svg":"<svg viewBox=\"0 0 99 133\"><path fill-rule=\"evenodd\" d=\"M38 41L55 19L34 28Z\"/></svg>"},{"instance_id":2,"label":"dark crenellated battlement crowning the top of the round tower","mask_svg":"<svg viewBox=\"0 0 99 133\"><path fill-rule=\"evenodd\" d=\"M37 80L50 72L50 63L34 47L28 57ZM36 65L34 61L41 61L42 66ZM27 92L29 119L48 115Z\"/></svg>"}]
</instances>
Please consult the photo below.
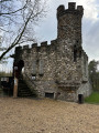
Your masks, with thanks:
<instances>
[{"instance_id":1,"label":"dark crenellated battlement crowning the top of the round tower","mask_svg":"<svg viewBox=\"0 0 99 133\"><path fill-rule=\"evenodd\" d=\"M77 6L76 9L76 2L68 2L68 9L65 10L65 7L62 4L57 8L57 18L62 17L66 13L75 13L75 14L84 14L84 8L82 6Z\"/></svg>"}]
</instances>

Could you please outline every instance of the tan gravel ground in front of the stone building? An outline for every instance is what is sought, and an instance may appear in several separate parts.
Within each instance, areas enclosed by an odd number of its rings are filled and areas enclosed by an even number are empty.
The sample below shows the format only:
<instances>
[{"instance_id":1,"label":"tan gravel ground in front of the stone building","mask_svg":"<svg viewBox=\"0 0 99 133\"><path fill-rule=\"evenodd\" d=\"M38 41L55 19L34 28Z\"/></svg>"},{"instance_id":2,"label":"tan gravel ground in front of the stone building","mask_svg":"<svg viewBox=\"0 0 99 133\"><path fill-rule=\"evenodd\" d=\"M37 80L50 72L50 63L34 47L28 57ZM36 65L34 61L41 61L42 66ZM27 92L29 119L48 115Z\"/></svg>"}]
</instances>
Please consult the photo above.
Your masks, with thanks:
<instances>
[{"instance_id":1,"label":"tan gravel ground in front of the stone building","mask_svg":"<svg viewBox=\"0 0 99 133\"><path fill-rule=\"evenodd\" d=\"M0 133L99 133L99 105L0 98Z\"/></svg>"}]
</instances>

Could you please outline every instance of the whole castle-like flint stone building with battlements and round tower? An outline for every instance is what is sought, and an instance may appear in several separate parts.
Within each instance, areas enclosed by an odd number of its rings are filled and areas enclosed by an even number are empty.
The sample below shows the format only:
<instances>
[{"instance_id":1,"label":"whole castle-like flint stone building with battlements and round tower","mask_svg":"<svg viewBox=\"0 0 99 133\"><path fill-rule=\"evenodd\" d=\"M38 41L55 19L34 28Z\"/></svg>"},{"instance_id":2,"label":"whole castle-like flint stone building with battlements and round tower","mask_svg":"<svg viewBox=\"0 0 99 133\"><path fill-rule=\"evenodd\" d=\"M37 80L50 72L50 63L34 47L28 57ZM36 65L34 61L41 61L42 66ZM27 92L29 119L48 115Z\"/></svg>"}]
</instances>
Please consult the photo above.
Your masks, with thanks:
<instances>
[{"instance_id":1,"label":"whole castle-like flint stone building with battlements and round tower","mask_svg":"<svg viewBox=\"0 0 99 133\"><path fill-rule=\"evenodd\" d=\"M38 96L77 101L78 94L88 96L91 93L88 81L88 57L81 47L81 18L82 6L75 2L57 8L57 39L16 47L14 62L23 61L24 73L30 78L28 84L33 88ZM31 88L32 89L32 88Z\"/></svg>"}]
</instances>

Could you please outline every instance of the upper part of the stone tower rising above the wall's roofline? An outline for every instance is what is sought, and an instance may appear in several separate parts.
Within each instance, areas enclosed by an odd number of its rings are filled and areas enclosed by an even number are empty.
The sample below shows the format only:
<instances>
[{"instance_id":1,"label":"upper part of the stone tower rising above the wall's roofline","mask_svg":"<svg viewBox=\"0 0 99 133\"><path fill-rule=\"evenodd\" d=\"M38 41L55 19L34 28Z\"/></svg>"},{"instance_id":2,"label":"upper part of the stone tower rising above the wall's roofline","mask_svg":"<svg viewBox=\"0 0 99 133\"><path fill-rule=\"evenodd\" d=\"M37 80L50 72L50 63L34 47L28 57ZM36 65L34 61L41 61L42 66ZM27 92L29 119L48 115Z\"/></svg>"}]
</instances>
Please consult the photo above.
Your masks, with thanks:
<instances>
[{"instance_id":1,"label":"upper part of the stone tower rising above the wall's roofline","mask_svg":"<svg viewBox=\"0 0 99 133\"><path fill-rule=\"evenodd\" d=\"M76 2L68 2L68 9L62 4L57 8L57 39L73 40L81 44L81 18L84 14L82 6Z\"/></svg>"}]
</instances>

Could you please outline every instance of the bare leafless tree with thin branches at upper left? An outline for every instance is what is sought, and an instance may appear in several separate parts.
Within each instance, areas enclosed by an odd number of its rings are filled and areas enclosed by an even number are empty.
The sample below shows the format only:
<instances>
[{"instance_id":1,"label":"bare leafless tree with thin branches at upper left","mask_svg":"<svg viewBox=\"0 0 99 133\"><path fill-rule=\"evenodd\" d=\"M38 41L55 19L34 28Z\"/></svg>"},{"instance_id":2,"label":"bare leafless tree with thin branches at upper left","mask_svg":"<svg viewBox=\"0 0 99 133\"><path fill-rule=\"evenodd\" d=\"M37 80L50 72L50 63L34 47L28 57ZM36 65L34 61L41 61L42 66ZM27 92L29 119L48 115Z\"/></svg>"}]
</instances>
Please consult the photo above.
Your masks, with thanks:
<instances>
[{"instance_id":1,"label":"bare leafless tree with thin branches at upper left","mask_svg":"<svg viewBox=\"0 0 99 133\"><path fill-rule=\"evenodd\" d=\"M15 45L34 41L34 24L44 16L43 0L0 0L2 45L0 61Z\"/></svg>"}]
</instances>

